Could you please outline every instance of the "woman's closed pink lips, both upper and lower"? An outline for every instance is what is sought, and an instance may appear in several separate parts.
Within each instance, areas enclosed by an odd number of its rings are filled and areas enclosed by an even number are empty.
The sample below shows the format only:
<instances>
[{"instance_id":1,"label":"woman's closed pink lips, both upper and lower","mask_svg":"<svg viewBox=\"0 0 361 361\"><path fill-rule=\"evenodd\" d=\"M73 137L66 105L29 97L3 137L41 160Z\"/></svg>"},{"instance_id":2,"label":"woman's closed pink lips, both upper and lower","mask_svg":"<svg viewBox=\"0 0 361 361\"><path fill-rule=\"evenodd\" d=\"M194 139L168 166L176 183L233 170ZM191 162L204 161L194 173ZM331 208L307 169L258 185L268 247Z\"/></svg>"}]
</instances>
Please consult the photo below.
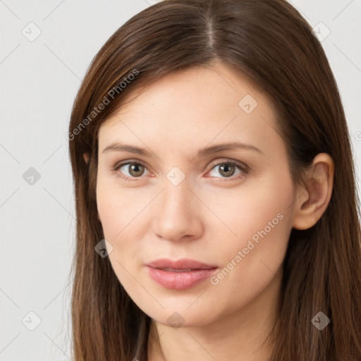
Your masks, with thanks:
<instances>
[{"instance_id":1,"label":"woman's closed pink lips, both upper and lower","mask_svg":"<svg viewBox=\"0 0 361 361\"><path fill-rule=\"evenodd\" d=\"M157 259L147 265L149 276L164 288L185 290L208 279L218 267L193 259ZM177 271L179 270L179 271ZM184 271L181 271L184 270Z\"/></svg>"}]
</instances>

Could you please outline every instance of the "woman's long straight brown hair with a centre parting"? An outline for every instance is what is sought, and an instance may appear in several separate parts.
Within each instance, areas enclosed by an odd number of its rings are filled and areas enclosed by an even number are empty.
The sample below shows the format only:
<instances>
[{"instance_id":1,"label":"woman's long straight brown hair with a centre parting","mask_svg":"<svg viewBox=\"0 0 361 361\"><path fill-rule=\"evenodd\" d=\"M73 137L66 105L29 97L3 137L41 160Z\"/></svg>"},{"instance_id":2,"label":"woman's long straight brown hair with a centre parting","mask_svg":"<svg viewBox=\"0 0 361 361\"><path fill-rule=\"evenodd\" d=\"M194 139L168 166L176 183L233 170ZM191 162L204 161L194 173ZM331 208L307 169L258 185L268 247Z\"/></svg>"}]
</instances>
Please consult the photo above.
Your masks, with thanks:
<instances>
[{"instance_id":1,"label":"woman's long straight brown hair with a centre parting","mask_svg":"<svg viewBox=\"0 0 361 361\"><path fill-rule=\"evenodd\" d=\"M322 45L286 0L166 0L133 16L94 57L68 133L77 216L73 359L147 360L149 317L109 257L94 251L104 238L95 194L99 126L137 87L214 61L271 99L295 185L317 154L335 164L326 212L312 228L290 234L271 360L360 361L360 201L348 127ZM331 320L322 331L311 322L318 312Z\"/></svg>"}]
</instances>

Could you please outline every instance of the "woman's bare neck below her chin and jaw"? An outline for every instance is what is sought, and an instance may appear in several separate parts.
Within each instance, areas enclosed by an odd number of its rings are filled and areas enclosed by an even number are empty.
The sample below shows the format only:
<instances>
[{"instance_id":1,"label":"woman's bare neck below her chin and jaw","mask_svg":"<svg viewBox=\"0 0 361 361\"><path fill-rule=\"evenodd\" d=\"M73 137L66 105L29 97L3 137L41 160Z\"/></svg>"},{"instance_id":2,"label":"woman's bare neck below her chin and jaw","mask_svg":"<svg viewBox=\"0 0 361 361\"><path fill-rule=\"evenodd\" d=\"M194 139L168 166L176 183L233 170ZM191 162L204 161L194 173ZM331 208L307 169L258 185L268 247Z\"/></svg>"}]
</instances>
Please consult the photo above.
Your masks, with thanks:
<instances>
[{"instance_id":1,"label":"woman's bare neck below her chin and jaw","mask_svg":"<svg viewBox=\"0 0 361 361\"><path fill-rule=\"evenodd\" d=\"M271 360L280 287L281 272L245 307L202 326L173 329L152 320L148 361Z\"/></svg>"}]
</instances>

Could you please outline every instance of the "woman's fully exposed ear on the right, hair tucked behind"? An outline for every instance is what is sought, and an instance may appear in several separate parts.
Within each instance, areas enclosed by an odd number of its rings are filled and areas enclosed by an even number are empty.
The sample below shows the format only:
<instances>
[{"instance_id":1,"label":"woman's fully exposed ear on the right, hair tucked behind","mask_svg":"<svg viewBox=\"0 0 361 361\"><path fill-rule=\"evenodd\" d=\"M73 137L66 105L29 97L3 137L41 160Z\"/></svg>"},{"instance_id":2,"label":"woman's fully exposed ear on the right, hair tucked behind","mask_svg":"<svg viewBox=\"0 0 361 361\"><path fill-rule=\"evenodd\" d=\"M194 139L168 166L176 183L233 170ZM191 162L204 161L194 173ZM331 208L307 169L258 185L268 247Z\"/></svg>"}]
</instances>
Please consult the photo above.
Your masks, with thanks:
<instances>
[{"instance_id":1,"label":"woman's fully exposed ear on the right, hair tucked behind","mask_svg":"<svg viewBox=\"0 0 361 361\"><path fill-rule=\"evenodd\" d=\"M334 187L334 160L329 154L314 157L307 171L306 187L298 189L293 214L293 228L311 228L326 211Z\"/></svg>"}]
</instances>

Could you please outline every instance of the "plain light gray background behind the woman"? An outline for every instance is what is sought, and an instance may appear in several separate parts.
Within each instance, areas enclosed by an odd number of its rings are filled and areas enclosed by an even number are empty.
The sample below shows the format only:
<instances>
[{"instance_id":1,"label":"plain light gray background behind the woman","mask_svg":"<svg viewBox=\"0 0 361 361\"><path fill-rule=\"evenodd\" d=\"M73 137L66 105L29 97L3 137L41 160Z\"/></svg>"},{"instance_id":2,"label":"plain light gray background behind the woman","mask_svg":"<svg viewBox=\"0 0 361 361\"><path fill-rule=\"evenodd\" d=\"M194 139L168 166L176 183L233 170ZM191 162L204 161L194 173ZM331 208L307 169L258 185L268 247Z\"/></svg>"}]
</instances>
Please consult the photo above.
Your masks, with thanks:
<instances>
[{"instance_id":1,"label":"plain light gray background behind the woman","mask_svg":"<svg viewBox=\"0 0 361 361\"><path fill-rule=\"evenodd\" d=\"M65 135L71 106L106 39L155 2L0 0L1 361L70 360L75 212ZM331 31L322 45L343 99L360 191L361 1L291 4L312 27L322 22ZM31 22L41 30L32 42ZM326 35L323 25L317 29ZM30 167L39 180L27 178Z\"/></svg>"}]
</instances>

